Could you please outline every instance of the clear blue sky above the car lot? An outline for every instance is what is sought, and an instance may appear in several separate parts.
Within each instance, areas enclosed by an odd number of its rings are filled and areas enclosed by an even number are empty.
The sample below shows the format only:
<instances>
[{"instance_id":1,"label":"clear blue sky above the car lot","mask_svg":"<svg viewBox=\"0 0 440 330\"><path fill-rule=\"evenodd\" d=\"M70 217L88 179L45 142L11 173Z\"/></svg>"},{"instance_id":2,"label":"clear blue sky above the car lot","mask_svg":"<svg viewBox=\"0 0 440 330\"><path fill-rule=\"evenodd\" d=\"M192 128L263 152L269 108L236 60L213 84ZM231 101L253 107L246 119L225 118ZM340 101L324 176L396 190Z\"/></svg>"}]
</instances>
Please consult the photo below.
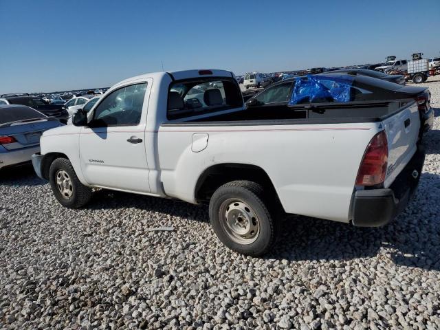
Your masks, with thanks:
<instances>
[{"instance_id":1,"label":"clear blue sky above the car lot","mask_svg":"<svg viewBox=\"0 0 440 330\"><path fill-rule=\"evenodd\" d=\"M440 0L0 0L0 93L440 56Z\"/></svg>"}]
</instances>

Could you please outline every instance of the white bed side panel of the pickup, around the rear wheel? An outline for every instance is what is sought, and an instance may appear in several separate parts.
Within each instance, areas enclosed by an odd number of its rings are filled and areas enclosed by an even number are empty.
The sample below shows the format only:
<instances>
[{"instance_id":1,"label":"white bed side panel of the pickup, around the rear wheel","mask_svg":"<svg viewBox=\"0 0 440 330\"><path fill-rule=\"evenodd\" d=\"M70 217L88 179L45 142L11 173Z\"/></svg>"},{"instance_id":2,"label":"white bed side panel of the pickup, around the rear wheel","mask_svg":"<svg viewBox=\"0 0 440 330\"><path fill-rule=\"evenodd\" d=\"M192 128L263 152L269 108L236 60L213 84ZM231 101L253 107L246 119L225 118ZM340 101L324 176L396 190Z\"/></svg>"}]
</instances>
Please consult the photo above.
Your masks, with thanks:
<instances>
[{"instance_id":1,"label":"white bed side panel of the pickup, around the rear wheel","mask_svg":"<svg viewBox=\"0 0 440 330\"><path fill-rule=\"evenodd\" d=\"M288 213L349 221L356 175L378 124L279 126L161 126L159 164L166 195L195 203L195 186L215 164L259 166L269 175ZM192 135L208 133L208 146L191 150Z\"/></svg>"}]
</instances>

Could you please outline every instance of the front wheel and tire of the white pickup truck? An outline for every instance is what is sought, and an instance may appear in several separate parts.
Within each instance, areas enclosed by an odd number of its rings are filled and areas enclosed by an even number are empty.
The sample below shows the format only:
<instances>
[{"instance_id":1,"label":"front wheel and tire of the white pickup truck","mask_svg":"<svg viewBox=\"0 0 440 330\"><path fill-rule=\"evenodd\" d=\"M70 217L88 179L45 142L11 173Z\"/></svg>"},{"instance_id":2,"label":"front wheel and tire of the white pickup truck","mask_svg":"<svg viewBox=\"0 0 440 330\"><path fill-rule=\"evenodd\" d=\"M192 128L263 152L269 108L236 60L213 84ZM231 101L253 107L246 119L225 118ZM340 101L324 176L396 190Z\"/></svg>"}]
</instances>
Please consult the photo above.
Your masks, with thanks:
<instances>
[{"instance_id":1,"label":"front wheel and tire of the white pickup truck","mask_svg":"<svg viewBox=\"0 0 440 330\"><path fill-rule=\"evenodd\" d=\"M91 199L91 188L80 182L69 159L56 158L52 162L49 181L56 199L66 208L81 208Z\"/></svg>"}]
</instances>

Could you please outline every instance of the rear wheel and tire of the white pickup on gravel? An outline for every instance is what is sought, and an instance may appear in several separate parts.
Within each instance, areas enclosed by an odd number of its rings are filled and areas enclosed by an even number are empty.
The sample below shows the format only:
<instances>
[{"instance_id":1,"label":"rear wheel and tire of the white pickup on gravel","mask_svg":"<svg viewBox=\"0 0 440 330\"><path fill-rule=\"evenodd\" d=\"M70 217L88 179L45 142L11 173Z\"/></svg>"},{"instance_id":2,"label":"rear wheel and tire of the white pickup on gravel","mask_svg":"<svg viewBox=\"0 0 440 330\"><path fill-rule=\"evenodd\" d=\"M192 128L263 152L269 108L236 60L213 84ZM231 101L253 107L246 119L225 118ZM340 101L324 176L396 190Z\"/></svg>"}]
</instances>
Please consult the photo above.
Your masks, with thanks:
<instances>
[{"instance_id":1,"label":"rear wheel and tire of the white pickup on gravel","mask_svg":"<svg viewBox=\"0 0 440 330\"><path fill-rule=\"evenodd\" d=\"M209 204L212 229L231 250L261 256L270 250L278 232L265 203L263 187L252 181L223 184Z\"/></svg>"}]
</instances>

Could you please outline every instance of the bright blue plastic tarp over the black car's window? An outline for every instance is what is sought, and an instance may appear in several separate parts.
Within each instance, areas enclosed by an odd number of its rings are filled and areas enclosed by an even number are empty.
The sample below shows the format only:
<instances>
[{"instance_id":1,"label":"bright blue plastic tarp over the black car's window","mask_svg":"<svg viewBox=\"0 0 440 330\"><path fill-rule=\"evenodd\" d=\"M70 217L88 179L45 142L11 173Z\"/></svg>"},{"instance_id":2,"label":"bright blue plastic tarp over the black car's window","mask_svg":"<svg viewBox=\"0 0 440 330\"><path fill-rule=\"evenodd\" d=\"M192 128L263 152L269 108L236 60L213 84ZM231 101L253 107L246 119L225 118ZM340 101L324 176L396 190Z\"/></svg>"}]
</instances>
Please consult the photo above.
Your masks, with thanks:
<instances>
[{"instance_id":1,"label":"bright blue plastic tarp over the black car's window","mask_svg":"<svg viewBox=\"0 0 440 330\"><path fill-rule=\"evenodd\" d=\"M309 102L349 102L353 78L312 76L296 78L289 105Z\"/></svg>"}]
</instances>

